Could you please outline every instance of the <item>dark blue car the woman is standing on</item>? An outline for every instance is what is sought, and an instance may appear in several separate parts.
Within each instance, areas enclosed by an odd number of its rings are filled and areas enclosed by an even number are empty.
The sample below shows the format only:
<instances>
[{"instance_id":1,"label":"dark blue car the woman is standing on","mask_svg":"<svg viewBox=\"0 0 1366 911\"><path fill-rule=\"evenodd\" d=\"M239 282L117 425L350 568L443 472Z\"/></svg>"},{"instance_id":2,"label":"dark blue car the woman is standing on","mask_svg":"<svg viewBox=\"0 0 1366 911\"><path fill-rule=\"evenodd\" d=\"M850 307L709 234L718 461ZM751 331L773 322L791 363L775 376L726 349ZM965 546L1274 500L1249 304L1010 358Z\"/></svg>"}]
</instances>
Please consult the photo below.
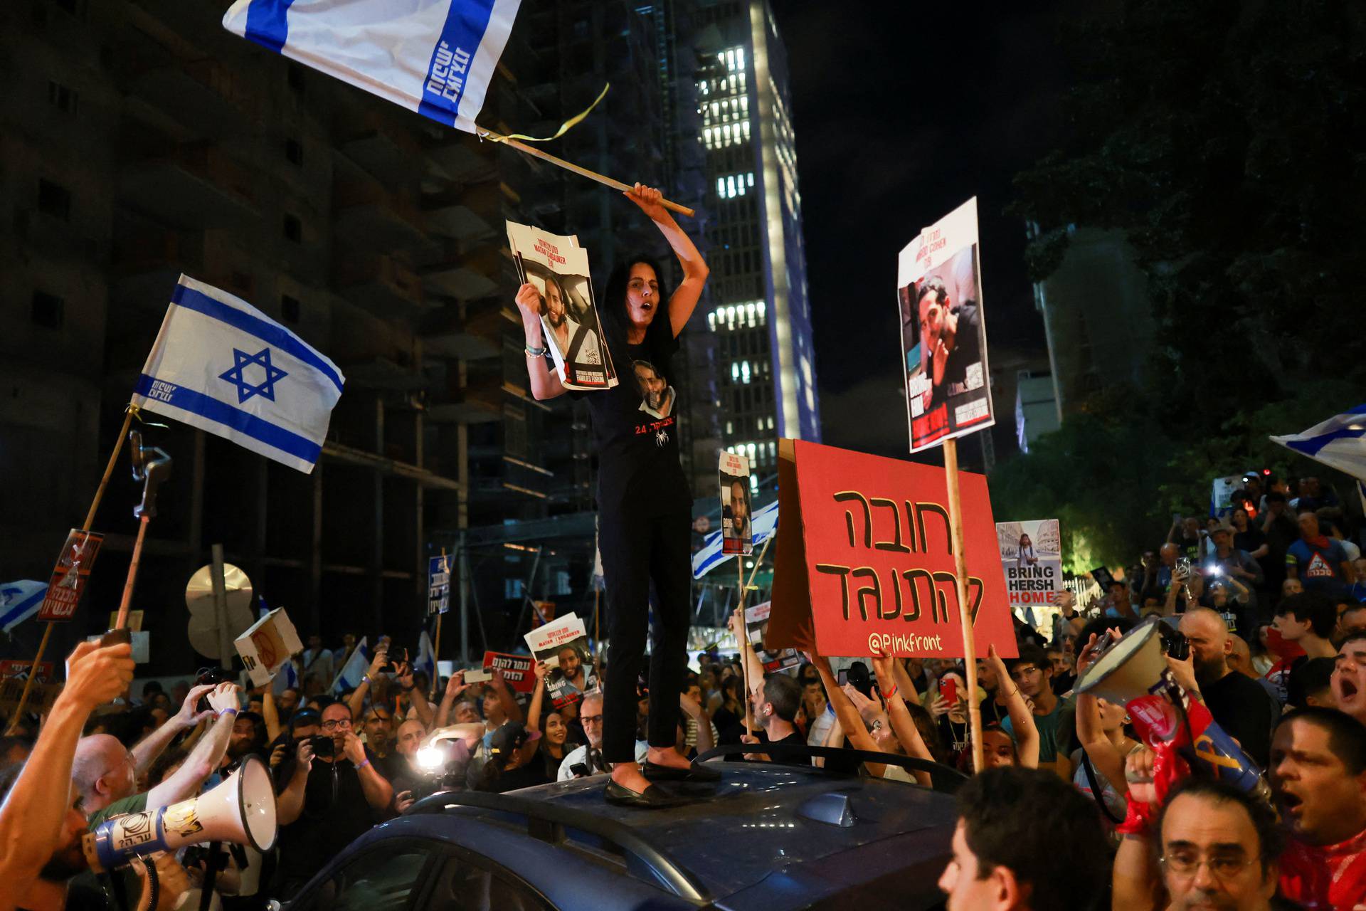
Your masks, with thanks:
<instances>
[{"instance_id":1,"label":"dark blue car the woman is standing on","mask_svg":"<svg viewBox=\"0 0 1366 911\"><path fill-rule=\"evenodd\" d=\"M947 794L810 765L716 768L720 784L669 785L694 799L669 810L613 807L601 777L433 795L357 839L285 907L943 907L936 882L956 821ZM940 768L936 784L952 776Z\"/></svg>"}]
</instances>

